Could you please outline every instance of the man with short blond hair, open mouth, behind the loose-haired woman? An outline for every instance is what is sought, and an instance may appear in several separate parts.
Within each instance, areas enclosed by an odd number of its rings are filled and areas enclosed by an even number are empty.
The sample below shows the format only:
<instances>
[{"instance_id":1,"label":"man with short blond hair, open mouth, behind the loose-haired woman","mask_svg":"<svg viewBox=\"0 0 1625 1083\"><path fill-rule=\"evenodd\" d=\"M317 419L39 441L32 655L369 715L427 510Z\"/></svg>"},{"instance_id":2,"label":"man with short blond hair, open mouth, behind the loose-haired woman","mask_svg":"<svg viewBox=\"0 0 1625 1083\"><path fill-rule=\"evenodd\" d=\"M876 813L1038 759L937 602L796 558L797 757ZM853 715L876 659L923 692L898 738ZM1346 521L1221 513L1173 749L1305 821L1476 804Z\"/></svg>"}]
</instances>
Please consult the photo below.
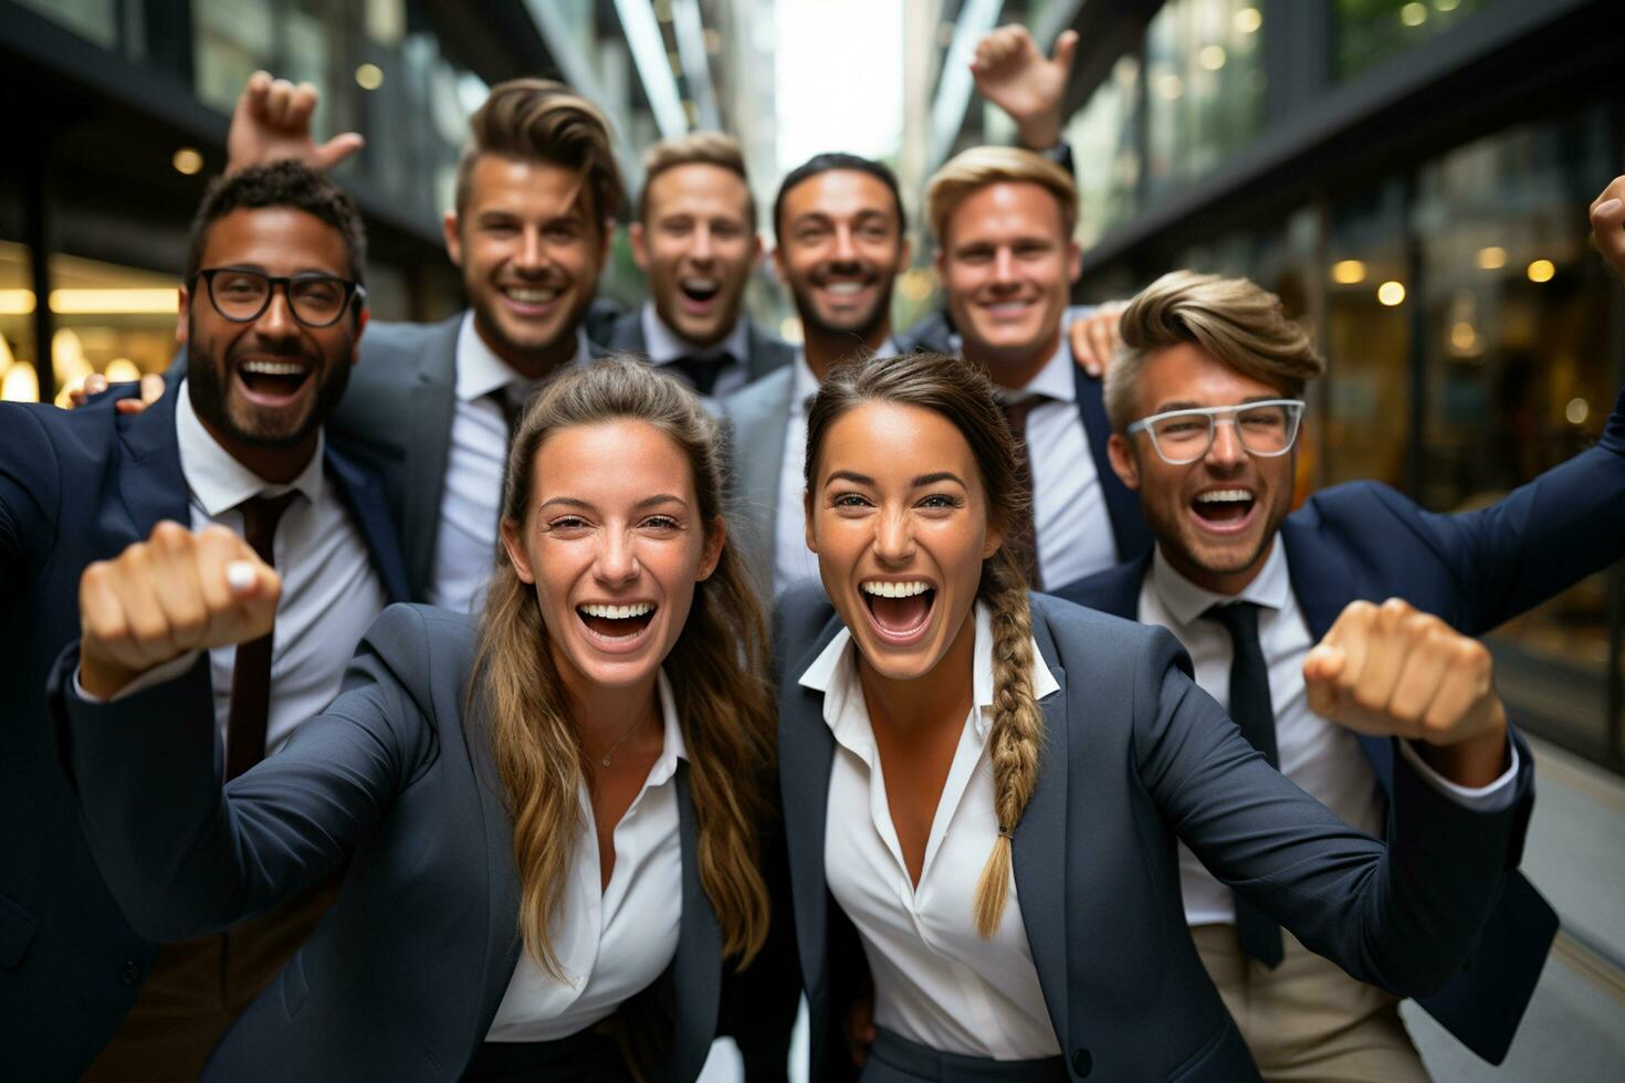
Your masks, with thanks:
<instances>
[{"instance_id":1,"label":"man with short blond hair, open mouth, behind the loose-haired woman","mask_svg":"<svg viewBox=\"0 0 1625 1083\"><path fill-rule=\"evenodd\" d=\"M647 357L718 399L790 364L793 347L744 315L762 240L733 136L692 132L648 148L627 235L650 299L622 313L603 346Z\"/></svg>"}]
</instances>

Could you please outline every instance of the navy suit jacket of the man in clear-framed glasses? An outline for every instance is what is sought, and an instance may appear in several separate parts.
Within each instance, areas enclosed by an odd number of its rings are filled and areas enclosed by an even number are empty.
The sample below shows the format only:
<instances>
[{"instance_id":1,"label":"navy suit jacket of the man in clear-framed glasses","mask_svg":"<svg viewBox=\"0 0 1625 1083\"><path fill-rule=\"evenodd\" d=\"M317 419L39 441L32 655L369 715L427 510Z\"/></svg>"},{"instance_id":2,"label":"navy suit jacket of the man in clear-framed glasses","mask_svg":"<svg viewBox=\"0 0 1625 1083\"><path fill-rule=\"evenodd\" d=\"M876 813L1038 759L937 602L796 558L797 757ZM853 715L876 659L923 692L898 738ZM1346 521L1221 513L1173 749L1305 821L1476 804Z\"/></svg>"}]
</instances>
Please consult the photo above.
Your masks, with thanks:
<instances>
[{"instance_id":1,"label":"navy suit jacket of the man in clear-framed glasses","mask_svg":"<svg viewBox=\"0 0 1625 1083\"><path fill-rule=\"evenodd\" d=\"M1436 515L1373 482L1310 497L1280 524L1310 635L1324 636L1344 606L1362 598L1404 598L1458 632L1482 635L1618 560L1625 554L1622 408L1625 395L1597 447L1480 511ZM1147 555L1056 593L1133 619L1149 567ZM1360 745L1393 796L1391 744L1362 737ZM1555 935L1557 914L1513 874L1472 966L1422 1007L1464 1046L1500 1064Z\"/></svg>"}]
</instances>

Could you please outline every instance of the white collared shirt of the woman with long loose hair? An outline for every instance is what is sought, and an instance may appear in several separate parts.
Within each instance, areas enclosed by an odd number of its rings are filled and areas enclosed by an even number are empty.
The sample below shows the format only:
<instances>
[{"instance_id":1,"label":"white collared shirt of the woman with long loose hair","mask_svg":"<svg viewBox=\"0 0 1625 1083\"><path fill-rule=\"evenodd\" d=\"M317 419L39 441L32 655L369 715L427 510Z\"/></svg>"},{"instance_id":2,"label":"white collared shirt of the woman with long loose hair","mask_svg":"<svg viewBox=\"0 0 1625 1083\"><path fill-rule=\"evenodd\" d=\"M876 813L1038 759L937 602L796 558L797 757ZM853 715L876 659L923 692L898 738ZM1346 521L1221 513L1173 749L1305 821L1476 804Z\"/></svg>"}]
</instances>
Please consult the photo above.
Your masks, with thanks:
<instances>
[{"instance_id":1,"label":"white collared shirt of the woman with long loose hair","mask_svg":"<svg viewBox=\"0 0 1625 1083\"><path fill-rule=\"evenodd\" d=\"M682 833L676 774L687 750L665 671L658 687L665 747L616 823L614 869L603 890L593 805L585 783L578 791L580 826L569 880L549 927L566 979L549 977L522 951L486 1041L538 1042L575 1034L660 977L678 953Z\"/></svg>"}]
</instances>

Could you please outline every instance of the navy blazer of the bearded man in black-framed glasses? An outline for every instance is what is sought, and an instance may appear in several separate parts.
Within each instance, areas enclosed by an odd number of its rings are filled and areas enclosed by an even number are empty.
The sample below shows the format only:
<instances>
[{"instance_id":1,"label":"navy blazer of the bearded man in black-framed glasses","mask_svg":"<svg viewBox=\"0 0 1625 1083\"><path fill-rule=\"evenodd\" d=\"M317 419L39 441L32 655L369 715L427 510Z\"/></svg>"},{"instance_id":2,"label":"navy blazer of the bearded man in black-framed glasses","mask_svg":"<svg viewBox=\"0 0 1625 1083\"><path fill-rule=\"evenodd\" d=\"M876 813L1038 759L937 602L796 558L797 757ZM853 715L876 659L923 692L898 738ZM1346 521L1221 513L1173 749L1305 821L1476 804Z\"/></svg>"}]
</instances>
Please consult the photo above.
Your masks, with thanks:
<instances>
[{"instance_id":1,"label":"navy blazer of the bearded man in black-framed glasses","mask_svg":"<svg viewBox=\"0 0 1625 1083\"><path fill-rule=\"evenodd\" d=\"M130 385L133 390L135 385ZM99 396L75 411L0 404L0 1077L75 1078L124 1021L158 947L102 885L73 794L50 752L46 679L80 636L80 575L188 524L176 398L125 417ZM406 594L377 479L327 442L327 477L348 503L392 599ZM205 667L206 669L206 667ZM206 672L205 672L206 682Z\"/></svg>"}]
</instances>

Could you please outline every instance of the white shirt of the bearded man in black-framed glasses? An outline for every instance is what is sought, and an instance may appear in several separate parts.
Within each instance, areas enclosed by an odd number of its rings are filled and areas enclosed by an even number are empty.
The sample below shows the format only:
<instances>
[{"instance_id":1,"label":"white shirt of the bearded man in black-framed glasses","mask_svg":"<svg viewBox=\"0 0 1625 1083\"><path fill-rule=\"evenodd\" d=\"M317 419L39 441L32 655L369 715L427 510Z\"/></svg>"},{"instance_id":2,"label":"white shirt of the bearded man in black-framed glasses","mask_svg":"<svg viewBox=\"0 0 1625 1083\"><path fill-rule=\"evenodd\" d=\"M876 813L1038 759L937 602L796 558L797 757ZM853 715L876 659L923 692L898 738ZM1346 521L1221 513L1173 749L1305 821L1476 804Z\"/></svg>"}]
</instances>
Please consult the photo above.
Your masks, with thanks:
<instances>
[{"instance_id":1,"label":"white shirt of the bearded man in black-framed glasses","mask_svg":"<svg viewBox=\"0 0 1625 1083\"><path fill-rule=\"evenodd\" d=\"M176 440L180 472L190 490L193 531L219 524L240 536L239 503L255 495L301 494L283 511L271 542L283 594L276 602L271 638L271 695L265 724L265 753L270 755L302 721L318 714L338 695L356 643L384 611L388 596L349 510L322 474L323 435L317 435L315 455L291 484L268 484L210 435L192 409L192 396L182 380L176 391ZM174 675L190 667L192 658L177 659L164 672ZM224 742L237 648L218 646L210 651L208 661L214 684L214 721Z\"/></svg>"}]
</instances>

